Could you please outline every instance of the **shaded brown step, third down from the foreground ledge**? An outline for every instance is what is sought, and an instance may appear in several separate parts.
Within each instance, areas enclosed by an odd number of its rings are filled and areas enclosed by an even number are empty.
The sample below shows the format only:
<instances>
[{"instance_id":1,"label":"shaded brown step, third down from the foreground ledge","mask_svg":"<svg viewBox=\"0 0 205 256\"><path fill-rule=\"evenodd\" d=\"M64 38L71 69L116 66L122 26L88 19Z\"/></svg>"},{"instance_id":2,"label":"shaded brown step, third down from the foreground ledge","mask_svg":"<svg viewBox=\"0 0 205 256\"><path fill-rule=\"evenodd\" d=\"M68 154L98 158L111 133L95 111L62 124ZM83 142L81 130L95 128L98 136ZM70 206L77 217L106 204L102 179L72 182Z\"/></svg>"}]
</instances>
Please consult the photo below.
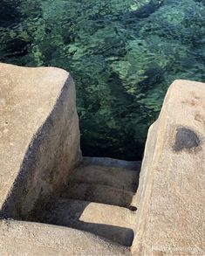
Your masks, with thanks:
<instances>
[{"instance_id":1,"label":"shaded brown step, third down from the foreground ledge","mask_svg":"<svg viewBox=\"0 0 205 256\"><path fill-rule=\"evenodd\" d=\"M69 180L70 182L94 183L136 192L139 174L139 170L82 164L79 168L72 171Z\"/></svg>"}]
</instances>

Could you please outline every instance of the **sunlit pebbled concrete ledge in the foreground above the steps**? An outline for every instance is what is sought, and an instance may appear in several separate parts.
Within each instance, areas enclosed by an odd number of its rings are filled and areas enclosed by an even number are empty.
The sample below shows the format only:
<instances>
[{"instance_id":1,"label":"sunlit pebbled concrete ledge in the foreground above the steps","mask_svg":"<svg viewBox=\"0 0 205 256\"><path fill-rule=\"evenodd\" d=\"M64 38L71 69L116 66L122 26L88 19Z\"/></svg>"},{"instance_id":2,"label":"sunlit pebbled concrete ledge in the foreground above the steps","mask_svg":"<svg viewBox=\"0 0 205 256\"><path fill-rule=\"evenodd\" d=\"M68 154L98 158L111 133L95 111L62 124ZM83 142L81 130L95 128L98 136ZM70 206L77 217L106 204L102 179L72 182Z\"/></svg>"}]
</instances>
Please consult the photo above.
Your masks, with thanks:
<instances>
[{"instance_id":1,"label":"sunlit pebbled concrete ledge in the foreground above the steps","mask_svg":"<svg viewBox=\"0 0 205 256\"><path fill-rule=\"evenodd\" d=\"M2 256L128 256L128 248L72 228L23 221L0 221Z\"/></svg>"}]
</instances>

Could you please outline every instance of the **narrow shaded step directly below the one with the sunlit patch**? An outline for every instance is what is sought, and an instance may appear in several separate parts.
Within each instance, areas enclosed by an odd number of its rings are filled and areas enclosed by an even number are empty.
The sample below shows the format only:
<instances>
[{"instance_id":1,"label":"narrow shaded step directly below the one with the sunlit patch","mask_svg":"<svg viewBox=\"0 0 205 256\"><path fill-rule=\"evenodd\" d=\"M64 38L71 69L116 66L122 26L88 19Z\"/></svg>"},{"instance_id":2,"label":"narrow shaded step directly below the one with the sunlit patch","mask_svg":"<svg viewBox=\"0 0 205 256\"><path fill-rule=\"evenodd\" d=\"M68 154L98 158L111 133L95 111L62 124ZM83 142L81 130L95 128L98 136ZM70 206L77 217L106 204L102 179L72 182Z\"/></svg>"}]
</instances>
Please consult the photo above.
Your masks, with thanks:
<instances>
[{"instance_id":1,"label":"narrow shaded step directly below the one with the sunlit patch","mask_svg":"<svg viewBox=\"0 0 205 256\"><path fill-rule=\"evenodd\" d=\"M96 183L69 183L62 197L91 201L101 204L113 204L129 208L134 193L116 187Z\"/></svg>"}]
</instances>

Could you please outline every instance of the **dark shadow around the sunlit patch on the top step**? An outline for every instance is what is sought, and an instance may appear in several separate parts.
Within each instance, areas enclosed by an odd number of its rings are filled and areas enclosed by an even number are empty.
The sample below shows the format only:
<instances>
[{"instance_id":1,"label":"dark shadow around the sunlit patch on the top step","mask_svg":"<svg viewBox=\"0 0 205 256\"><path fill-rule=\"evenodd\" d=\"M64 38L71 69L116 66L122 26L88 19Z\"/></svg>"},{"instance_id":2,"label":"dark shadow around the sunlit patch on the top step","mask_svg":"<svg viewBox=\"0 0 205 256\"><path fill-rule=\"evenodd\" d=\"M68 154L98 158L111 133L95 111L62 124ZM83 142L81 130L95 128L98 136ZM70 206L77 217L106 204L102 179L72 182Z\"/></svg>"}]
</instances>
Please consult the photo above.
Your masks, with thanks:
<instances>
[{"instance_id":1,"label":"dark shadow around the sunlit patch on the top step","mask_svg":"<svg viewBox=\"0 0 205 256\"><path fill-rule=\"evenodd\" d=\"M73 204L71 206L66 198L61 198L56 203L55 197L45 197L43 201L38 203L37 208L33 211L33 215L27 220L91 232L103 239L111 240L122 246L132 246L133 229L117 225L82 221L80 217L90 202L80 200L79 202L81 204L77 203L75 204L75 208L72 208Z\"/></svg>"}]
</instances>

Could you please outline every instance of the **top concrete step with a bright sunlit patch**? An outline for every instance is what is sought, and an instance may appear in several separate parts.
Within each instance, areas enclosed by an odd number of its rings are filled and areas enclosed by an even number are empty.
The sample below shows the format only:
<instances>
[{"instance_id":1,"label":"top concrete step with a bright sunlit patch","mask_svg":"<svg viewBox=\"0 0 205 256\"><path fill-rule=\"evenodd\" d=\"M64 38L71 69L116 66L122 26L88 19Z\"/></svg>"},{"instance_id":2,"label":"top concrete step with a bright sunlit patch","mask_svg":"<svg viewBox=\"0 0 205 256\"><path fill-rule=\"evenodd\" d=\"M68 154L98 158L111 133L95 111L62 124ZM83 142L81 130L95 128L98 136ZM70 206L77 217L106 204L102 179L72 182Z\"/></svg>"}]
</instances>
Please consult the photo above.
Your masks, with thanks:
<instances>
[{"instance_id":1,"label":"top concrete step with a bright sunlit patch","mask_svg":"<svg viewBox=\"0 0 205 256\"><path fill-rule=\"evenodd\" d=\"M53 198L41 204L39 221L92 232L122 246L131 246L136 213L119 206Z\"/></svg>"}]
</instances>

